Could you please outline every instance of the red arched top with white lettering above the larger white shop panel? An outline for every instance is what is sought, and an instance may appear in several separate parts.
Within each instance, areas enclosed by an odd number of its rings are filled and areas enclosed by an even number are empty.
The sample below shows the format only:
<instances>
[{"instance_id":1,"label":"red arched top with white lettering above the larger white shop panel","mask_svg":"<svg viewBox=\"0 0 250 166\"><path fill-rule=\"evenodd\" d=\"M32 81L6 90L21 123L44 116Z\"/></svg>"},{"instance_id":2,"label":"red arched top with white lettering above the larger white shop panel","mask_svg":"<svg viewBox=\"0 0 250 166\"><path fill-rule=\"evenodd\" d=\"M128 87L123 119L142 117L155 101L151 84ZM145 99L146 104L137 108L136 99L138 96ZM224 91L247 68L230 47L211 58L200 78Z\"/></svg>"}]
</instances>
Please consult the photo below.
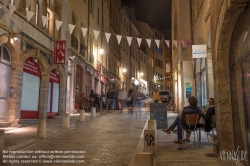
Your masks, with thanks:
<instances>
[{"instance_id":1,"label":"red arched top with white lettering above the larger white shop panel","mask_svg":"<svg viewBox=\"0 0 250 166\"><path fill-rule=\"evenodd\" d=\"M36 75L38 77L41 76L40 68L32 57L29 57L25 60L23 65L23 71L29 74Z\"/></svg>"}]
</instances>

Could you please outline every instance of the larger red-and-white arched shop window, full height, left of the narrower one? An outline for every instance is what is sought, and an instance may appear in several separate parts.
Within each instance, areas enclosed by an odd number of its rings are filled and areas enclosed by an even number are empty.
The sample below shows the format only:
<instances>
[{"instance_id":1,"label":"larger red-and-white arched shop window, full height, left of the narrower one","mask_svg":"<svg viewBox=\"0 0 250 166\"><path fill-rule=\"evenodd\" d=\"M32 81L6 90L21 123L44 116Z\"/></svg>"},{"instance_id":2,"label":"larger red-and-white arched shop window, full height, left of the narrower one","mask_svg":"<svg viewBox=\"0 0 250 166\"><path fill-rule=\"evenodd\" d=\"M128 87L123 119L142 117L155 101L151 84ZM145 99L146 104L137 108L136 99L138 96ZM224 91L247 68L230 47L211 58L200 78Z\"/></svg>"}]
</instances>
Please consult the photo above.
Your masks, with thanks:
<instances>
[{"instance_id":1,"label":"larger red-and-white arched shop window, full height, left of the narrower one","mask_svg":"<svg viewBox=\"0 0 250 166\"><path fill-rule=\"evenodd\" d=\"M23 67L21 119L38 119L40 77L37 59L27 58Z\"/></svg>"}]
</instances>

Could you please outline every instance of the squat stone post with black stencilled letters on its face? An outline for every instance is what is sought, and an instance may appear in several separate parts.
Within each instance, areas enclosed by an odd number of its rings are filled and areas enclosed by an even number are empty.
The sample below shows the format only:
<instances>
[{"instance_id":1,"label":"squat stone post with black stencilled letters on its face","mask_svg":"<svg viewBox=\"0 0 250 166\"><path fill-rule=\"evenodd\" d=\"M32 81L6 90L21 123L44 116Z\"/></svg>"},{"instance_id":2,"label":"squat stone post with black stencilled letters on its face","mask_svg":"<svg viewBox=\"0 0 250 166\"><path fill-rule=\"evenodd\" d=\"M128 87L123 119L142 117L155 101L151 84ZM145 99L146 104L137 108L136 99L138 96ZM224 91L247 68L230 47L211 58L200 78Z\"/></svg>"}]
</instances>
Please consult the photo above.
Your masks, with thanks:
<instances>
[{"instance_id":1,"label":"squat stone post with black stencilled letters on its face","mask_svg":"<svg viewBox=\"0 0 250 166\"><path fill-rule=\"evenodd\" d=\"M156 156L155 130L144 130L144 152L150 152Z\"/></svg>"}]
</instances>

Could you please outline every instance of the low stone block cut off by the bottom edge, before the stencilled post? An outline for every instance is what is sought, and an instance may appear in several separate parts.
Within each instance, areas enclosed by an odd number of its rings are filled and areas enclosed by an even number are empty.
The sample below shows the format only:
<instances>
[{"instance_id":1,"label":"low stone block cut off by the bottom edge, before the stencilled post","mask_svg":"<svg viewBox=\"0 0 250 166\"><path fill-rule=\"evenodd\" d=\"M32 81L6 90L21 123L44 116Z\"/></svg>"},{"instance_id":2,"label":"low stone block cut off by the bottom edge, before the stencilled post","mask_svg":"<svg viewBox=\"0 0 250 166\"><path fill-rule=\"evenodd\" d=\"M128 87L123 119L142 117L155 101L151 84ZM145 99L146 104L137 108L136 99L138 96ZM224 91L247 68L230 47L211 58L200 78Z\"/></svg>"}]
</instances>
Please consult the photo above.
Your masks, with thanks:
<instances>
[{"instance_id":1,"label":"low stone block cut off by the bottom edge, before the stencilled post","mask_svg":"<svg viewBox=\"0 0 250 166\"><path fill-rule=\"evenodd\" d=\"M138 152L135 155L136 166L153 166L152 153L149 152Z\"/></svg>"}]
</instances>

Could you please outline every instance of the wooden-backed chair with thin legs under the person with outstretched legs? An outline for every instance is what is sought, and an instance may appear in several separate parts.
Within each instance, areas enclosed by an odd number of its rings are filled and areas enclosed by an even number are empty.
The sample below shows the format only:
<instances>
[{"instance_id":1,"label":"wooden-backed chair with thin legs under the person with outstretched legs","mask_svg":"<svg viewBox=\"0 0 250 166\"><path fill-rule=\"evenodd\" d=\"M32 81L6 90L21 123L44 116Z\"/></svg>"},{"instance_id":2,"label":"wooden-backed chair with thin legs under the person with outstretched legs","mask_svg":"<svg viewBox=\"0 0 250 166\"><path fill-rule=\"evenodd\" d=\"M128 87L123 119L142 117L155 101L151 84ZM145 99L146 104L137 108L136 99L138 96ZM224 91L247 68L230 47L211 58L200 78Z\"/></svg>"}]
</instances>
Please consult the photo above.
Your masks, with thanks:
<instances>
[{"instance_id":1,"label":"wooden-backed chair with thin legs under the person with outstretched legs","mask_svg":"<svg viewBox=\"0 0 250 166\"><path fill-rule=\"evenodd\" d=\"M184 131L194 133L194 145L195 145L195 131L197 131L198 129L200 117L201 117L200 114L186 114L185 123L188 125L188 128L182 128L182 135L184 135ZM199 130L199 138L198 138L199 147L201 144L200 140L201 140L201 134ZM183 148L183 139L182 139L182 148Z\"/></svg>"}]
</instances>

